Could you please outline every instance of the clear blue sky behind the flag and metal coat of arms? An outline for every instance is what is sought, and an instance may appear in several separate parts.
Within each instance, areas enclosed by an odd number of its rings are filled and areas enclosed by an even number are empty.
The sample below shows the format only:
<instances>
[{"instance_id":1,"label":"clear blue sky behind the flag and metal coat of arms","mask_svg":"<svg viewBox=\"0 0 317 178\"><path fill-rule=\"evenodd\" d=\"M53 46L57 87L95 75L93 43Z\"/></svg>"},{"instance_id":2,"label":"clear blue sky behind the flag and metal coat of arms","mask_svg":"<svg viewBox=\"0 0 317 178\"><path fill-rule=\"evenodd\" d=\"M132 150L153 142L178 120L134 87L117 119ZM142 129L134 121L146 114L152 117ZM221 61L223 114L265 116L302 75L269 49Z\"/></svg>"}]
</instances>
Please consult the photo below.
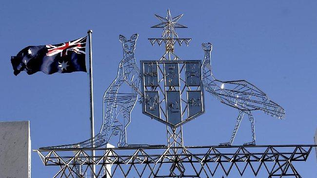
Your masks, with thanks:
<instances>
[{"instance_id":1,"label":"clear blue sky behind the flag and metal coat of arms","mask_svg":"<svg viewBox=\"0 0 317 178\"><path fill-rule=\"evenodd\" d=\"M313 144L317 128L317 1L0 1L0 121L30 120L32 149L73 143L89 137L88 77L84 72L14 76L10 56L29 45L57 44L85 36L93 29L95 127L102 120L102 96L122 59L119 34L139 34L139 60L158 59L164 47L152 47L154 14L184 14L179 37L192 37L189 47L176 48L182 59L203 59L201 43L213 43L212 66L220 80L246 79L286 110L277 120L255 112L258 144ZM229 140L238 111L206 93L207 112L183 127L185 145L218 145ZM165 126L141 114L138 104L128 127L129 143L166 143ZM251 141L242 121L234 144ZM315 151L298 163L303 178L317 177ZM32 153L32 177L48 178ZM234 178L235 175L229 177ZM259 177L264 177L259 175Z\"/></svg>"}]
</instances>

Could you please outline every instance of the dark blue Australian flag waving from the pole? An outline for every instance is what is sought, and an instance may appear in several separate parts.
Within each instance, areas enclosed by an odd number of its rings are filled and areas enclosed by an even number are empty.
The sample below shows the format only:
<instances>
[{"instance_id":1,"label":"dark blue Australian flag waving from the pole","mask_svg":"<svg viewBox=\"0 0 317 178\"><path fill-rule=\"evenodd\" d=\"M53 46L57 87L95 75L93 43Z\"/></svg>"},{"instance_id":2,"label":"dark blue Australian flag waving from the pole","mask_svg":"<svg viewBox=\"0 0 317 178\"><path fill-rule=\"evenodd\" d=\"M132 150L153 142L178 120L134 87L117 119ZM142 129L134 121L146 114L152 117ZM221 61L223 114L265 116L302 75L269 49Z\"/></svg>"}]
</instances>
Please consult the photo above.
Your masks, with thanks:
<instances>
[{"instance_id":1,"label":"dark blue Australian flag waving from the pole","mask_svg":"<svg viewBox=\"0 0 317 178\"><path fill-rule=\"evenodd\" d=\"M85 49L87 36L56 45L28 46L17 56L11 56L14 74L26 71L31 75L38 71L46 74L70 73L86 70Z\"/></svg>"}]
</instances>

